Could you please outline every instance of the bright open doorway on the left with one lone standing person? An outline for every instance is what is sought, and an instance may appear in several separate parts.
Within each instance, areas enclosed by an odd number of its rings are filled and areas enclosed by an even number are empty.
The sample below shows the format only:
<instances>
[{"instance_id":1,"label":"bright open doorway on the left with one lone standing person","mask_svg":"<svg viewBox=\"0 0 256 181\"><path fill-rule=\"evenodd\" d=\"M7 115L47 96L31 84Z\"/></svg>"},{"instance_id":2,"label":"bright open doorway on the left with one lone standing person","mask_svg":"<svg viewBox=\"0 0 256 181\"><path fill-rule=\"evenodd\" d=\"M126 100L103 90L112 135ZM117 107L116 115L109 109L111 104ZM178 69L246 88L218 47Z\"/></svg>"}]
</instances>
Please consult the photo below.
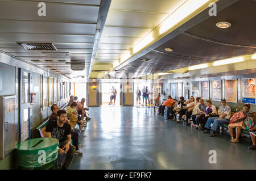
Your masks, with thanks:
<instances>
[{"instance_id":1,"label":"bright open doorway on the left with one lone standing person","mask_svg":"<svg viewBox=\"0 0 256 181\"><path fill-rule=\"evenodd\" d=\"M112 96L112 89L117 91L114 99L112 100L112 104L110 104L110 97ZM102 83L102 89L101 89L101 106L120 106L120 83ZM112 98L114 98L112 96ZM109 105L110 104L110 105Z\"/></svg>"}]
</instances>

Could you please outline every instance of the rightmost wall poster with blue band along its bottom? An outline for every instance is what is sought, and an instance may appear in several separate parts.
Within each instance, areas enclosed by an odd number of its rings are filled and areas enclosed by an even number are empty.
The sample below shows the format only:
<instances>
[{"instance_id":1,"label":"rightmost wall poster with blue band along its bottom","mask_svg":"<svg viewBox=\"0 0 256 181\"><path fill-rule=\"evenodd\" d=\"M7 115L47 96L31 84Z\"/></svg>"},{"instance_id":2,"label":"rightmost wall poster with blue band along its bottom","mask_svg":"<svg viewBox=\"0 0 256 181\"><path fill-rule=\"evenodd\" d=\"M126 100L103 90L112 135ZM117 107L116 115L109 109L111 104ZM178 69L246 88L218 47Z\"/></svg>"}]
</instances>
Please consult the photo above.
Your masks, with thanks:
<instances>
[{"instance_id":1,"label":"rightmost wall poster with blue band along its bottom","mask_svg":"<svg viewBox=\"0 0 256 181\"><path fill-rule=\"evenodd\" d=\"M242 79L242 103L255 104L255 78Z\"/></svg>"}]
</instances>

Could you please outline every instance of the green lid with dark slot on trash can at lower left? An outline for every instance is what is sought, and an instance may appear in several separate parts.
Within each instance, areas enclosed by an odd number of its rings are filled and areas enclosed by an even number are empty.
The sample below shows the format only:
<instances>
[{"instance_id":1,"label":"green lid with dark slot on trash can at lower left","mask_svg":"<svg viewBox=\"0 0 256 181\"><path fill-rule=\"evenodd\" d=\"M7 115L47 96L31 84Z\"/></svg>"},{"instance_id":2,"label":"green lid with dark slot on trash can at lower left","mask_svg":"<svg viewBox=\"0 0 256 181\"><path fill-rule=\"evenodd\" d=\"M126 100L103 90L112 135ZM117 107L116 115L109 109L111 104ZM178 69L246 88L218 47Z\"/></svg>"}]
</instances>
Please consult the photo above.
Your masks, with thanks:
<instances>
[{"instance_id":1,"label":"green lid with dark slot on trash can at lower left","mask_svg":"<svg viewBox=\"0 0 256 181\"><path fill-rule=\"evenodd\" d=\"M16 149L18 153L31 154L37 153L38 150L54 150L59 145L59 140L56 138L34 138L20 142Z\"/></svg>"}]
</instances>

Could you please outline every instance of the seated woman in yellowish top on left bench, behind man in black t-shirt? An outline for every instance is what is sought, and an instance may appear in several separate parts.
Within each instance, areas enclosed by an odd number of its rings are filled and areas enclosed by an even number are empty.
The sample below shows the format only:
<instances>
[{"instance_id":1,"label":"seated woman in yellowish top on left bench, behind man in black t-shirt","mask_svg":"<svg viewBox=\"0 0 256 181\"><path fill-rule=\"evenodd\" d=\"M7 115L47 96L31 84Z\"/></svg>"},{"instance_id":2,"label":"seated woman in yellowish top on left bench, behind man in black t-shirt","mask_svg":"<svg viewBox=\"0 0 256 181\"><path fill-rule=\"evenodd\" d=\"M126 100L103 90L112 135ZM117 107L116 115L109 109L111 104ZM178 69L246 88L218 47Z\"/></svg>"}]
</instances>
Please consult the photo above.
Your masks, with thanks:
<instances>
[{"instance_id":1,"label":"seated woman in yellowish top on left bench, behind man in black t-shirt","mask_svg":"<svg viewBox=\"0 0 256 181\"><path fill-rule=\"evenodd\" d=\"M76 102L72 102L68 106L67 117L68 117L69 121L71 122L72 128L74 128L76 126L76 122L78 121L80 131L84 131L84 129L82 129L82 127L86 127L86 125L84 125L84 123L82 123L81 117L77 114L76 106L77 106Z\"/></svg>"}]
</instances>

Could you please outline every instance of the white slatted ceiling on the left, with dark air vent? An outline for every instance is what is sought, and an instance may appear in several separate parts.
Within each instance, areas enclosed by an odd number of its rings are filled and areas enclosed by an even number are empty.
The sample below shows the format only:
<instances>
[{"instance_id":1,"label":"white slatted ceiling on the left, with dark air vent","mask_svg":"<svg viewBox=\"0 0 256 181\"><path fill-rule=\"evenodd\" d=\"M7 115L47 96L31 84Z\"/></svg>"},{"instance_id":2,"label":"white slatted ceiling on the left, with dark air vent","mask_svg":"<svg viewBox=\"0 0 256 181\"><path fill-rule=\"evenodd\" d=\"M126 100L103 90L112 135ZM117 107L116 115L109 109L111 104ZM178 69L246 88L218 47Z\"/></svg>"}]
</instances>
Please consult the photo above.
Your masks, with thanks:
<instances>
[{"instance_id":1,"label":"white slatted ceiling on the left, with dark air vent","mask_svg":"<svg viewBox=\"0 0 256 181\"><path fill-rule=\"evenodd\" d=\"M38 3L46 2L46 16ZM0 1L0 50L72 78L71 60L85 61L88 75L100 0ZM26 50L18 42L53 43L56 51ZM51 60L51 61L46 61ZM63 60L63 61L59 61Z\"/></svg>"}]
</instances>

